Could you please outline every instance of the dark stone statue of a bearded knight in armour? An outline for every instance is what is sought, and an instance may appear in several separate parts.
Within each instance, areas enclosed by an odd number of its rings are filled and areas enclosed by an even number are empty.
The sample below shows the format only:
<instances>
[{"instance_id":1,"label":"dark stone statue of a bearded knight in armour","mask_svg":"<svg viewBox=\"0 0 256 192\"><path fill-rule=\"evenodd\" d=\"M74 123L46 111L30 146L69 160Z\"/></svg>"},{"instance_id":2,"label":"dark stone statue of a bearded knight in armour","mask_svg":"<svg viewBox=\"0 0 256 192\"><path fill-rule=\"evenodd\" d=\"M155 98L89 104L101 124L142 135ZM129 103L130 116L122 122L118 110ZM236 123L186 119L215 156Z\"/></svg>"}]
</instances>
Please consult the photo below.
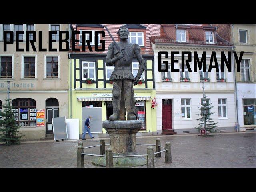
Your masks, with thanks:
<instances>
[{"instance_id":1,"label":"dark stone statue of a bearded knight in armour","mask_svg":"<svg viewBox=\"0 0 256 192\"><path fill-rule=\"evenodd\" d=\"M136 120L133 85L138 84L140 76L146 70L146 61L142 58L140 46L128 42L128 28L121 27L118 34L120 37L120 41L116 42L118 46L114 42L111 43L106 56L106 65L115 66L110 76L110 81L113 82L113 114L109 117L109 120L125 120L126 110L127 119ZM118 47L120 50L118 50ZM134 55L140 64L135 78L132 74L132 58Z\"/></svg>"}]
</instances>

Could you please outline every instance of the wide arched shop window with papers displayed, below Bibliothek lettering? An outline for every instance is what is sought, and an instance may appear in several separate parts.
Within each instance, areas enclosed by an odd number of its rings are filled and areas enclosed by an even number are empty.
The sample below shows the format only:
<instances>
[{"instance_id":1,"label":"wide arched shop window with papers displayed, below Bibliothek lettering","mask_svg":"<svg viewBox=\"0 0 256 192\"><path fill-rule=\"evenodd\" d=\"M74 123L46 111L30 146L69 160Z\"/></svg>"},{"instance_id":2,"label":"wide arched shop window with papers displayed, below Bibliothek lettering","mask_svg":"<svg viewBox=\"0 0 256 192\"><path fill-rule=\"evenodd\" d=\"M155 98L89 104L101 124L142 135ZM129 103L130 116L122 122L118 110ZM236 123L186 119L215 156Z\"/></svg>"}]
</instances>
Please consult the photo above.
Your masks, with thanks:
<instances>
[{"instance_id":1,"label":"wide arched shop window with papers displayed, below Bibliothek lettering","mask_svg":"<svg viewBox=\"0 0 256 192\"><path fill-rule=\"evenodd\" d=\"M36 101L30 98L12 100L17 126L36 126Z\"/></svg>"}]
</instances>

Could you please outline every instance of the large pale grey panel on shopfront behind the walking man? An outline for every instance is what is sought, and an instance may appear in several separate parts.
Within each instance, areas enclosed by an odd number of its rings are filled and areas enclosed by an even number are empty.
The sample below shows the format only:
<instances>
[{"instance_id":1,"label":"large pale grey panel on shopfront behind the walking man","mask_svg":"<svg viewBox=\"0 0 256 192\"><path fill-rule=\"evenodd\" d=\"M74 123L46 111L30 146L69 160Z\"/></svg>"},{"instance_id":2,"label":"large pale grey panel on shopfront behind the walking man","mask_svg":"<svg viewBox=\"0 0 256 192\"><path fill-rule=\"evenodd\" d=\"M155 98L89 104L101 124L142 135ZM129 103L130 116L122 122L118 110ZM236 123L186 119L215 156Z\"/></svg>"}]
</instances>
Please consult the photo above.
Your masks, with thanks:
<instances>
[{"instance_id":1,"label":"large pale grey panel on shopfront behind the walking man","mask_svg":"<svg viewBox=\"0 0 256 192\"><path fill-rule=\"evenodd\" d=\"M84 130L84 123L89 116L92 116L90 131L102 133L102 107L82 108L82 130Z\"/></svg>"}]
</instances>

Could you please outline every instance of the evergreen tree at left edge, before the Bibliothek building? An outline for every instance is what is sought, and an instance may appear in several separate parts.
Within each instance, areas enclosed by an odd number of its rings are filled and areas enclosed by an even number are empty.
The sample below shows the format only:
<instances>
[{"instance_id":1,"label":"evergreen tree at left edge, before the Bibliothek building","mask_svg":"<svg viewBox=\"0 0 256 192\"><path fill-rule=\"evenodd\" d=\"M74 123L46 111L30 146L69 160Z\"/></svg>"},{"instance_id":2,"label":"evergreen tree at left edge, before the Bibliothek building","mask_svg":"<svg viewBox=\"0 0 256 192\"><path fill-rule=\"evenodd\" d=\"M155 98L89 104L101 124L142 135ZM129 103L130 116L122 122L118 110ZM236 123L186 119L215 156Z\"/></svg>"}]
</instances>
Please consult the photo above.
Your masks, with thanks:
<instances>
[{"instance_id":1,"label":"evergreen tree at left edge, before the Bibliothek building","mask_svg":"<svg viewBox=\"0 0 256 192\"><path fill-rule=\"evenodd\" d=\"M23 136L18 133L20 127L16 126L11 99L6 100L3 108L4 112L0 112L0 116L2 116L2 120L0 120L0 142L5 142L6 145L20 144L20 138Z\"/></svg>"}]
</instances>

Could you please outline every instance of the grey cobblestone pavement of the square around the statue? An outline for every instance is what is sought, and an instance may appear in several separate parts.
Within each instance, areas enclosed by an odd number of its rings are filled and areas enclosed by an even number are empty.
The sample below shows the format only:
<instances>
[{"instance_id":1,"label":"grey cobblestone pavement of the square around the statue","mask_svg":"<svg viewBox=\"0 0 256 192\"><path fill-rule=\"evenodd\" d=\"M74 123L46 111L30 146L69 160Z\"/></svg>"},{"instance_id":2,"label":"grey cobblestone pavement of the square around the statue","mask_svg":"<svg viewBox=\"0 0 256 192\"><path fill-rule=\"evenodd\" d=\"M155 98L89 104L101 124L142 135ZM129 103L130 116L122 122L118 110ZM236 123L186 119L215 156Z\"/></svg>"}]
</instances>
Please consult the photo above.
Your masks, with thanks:
<instances>
[{"instance_id":1,"label":"grey cobblestone pavement of the square around the statue","mask_svg":"<svg viewBox=\"0 0 256 192\"><path fill-rule=\"evenodd\" d=\"M156 138L140 137L137 143L155 144ZM159 138L162 146L171 142L172 163L165 164L162 153L161 158L155 157L156 168L256 168L256 132ZM99 139L87 139L84 147L99 143ZM0 168L75 168L77 145L78 141L68 140L0 145ZM99 151L99 147L86 149L86 153ZM137 151L146 154L147 146L137 146ZM90 163L93 158L85 156L86 168L96 167Z\"/></svg>"}]
</instances>

